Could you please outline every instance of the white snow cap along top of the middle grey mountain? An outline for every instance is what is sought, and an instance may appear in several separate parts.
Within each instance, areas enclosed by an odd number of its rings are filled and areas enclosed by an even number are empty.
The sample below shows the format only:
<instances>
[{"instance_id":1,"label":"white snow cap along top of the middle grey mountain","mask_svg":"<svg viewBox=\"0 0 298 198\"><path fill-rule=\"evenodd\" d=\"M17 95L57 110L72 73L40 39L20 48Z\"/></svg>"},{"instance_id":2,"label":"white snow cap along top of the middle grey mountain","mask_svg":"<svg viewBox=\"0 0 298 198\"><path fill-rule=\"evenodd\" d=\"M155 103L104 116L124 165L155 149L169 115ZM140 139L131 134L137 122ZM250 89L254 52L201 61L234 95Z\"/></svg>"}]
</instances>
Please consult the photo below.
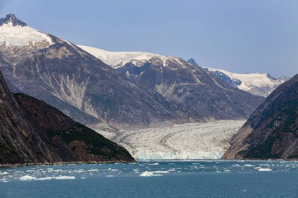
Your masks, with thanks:
<instances>
[{"instance_id":1,"label":"white snow cap along top of the middle grey mountain","mask_svg":"<svg viewBox=\"0 0 298 198\"><path fill-rule=\"evenodd\" d=\"M180 62L182 59L164 56L155 53L142 52L142 51L106 51L103 49L97 49L87 46L78 46L79 48L87 51L98 59L102 60L107 65L110 65L114 69L124 66L126 63L133 63L136 66L142 66L149 60L156 59L163 62L163 66L167 65L167 61Z\"/></svg>"}]
</instances>

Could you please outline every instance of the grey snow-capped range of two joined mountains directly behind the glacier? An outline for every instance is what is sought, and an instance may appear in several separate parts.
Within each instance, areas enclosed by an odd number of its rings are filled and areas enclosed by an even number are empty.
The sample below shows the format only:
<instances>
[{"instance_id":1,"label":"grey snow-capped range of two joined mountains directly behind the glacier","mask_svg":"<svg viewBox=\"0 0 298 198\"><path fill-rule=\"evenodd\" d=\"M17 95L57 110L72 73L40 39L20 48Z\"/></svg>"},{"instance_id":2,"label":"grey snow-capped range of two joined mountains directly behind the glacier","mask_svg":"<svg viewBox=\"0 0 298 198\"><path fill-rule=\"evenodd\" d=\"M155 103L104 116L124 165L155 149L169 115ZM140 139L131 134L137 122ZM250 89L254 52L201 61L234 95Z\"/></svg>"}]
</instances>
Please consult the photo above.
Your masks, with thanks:
<instances>
[{"instance_id":1,"label":"grey snow-capped range of two joined mountains directly behind the glacier","mask_svg":"<svg viewBox=\"0 0 298 198\"><path fill-rule=\"evenodd\" d=\"M181 58L77 47L13 14L0 22L0 69L13 92L109 130L245 119L264 99Z\"/></svg>"}]
</instances>

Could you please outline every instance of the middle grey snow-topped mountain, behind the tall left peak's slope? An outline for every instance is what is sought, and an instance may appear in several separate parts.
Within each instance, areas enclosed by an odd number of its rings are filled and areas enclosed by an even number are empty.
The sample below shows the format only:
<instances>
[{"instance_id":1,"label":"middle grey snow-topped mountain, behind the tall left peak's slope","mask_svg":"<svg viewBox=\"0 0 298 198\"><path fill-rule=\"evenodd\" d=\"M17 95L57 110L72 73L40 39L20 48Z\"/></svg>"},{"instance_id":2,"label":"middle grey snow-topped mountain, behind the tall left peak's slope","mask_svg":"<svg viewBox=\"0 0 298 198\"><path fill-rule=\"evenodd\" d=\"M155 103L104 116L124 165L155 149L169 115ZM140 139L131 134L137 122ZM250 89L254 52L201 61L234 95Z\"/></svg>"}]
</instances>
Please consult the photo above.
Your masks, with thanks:
<instances>
[{"instance_id":1,"label":"middle grey snow-topped mountain, behind the tall left peak's slope","mask_svg":"<svg viewBox=\"0 0 298 198\"><path fill-rule=\"evenodd\" d=\"M231 88L181 58L148 52L110 52L78 46L136 84L173 102L171 109L191 121L248 118L263 97ZM176 104L175 104L176 103Z\"/></svg>"}]
</instances>

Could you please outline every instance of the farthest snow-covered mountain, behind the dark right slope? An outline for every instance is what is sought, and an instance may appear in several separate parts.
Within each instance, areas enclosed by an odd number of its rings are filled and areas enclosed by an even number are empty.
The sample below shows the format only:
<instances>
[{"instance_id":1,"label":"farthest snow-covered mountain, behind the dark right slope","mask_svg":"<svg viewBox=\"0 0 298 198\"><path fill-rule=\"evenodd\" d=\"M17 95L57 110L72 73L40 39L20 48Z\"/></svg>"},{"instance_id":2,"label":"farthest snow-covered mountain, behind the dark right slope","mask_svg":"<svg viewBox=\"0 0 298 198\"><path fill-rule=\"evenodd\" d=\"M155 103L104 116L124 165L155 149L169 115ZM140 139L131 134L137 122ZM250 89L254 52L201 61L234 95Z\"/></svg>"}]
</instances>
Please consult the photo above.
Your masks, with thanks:
<instances>
[{"instance_id":1,"label":"farthest snow-covered mountain, behind the dark right slope","mask_svg":"<svg viewBox=\"0 0 298 198\"><path fill-rule=\"evenodd\" d=\"M289 80L289 77L286 76L276 79L268 73L237 74L223 69L207 68L196 63L193 58L189 59L188 62L206 69L210 74L224 80L229 86L249 92L255 96L267 97L279 85Z\"/></svg>"}]
</instances>

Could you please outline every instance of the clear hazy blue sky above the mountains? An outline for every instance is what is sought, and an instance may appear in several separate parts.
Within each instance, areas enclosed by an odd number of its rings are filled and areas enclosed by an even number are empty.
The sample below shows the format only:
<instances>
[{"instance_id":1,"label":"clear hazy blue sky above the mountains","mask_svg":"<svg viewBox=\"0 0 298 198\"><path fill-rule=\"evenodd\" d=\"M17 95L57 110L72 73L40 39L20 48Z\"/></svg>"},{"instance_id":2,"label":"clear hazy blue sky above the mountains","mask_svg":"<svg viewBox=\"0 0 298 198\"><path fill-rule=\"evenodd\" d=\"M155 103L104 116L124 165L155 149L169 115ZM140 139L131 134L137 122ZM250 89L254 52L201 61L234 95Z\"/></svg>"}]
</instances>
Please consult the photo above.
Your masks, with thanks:
<instances>
[{"instance_id":1,"label":"clear hazy blue sky above the mountains","mask_svg":"<svg viewBox=\"0 0 298 198\"><path fill-rule=\"evenodd\" d=\"M76 45L298 73L298 0L0 0L0 17L8 13Z\"/></svg>"}]
</instances>

